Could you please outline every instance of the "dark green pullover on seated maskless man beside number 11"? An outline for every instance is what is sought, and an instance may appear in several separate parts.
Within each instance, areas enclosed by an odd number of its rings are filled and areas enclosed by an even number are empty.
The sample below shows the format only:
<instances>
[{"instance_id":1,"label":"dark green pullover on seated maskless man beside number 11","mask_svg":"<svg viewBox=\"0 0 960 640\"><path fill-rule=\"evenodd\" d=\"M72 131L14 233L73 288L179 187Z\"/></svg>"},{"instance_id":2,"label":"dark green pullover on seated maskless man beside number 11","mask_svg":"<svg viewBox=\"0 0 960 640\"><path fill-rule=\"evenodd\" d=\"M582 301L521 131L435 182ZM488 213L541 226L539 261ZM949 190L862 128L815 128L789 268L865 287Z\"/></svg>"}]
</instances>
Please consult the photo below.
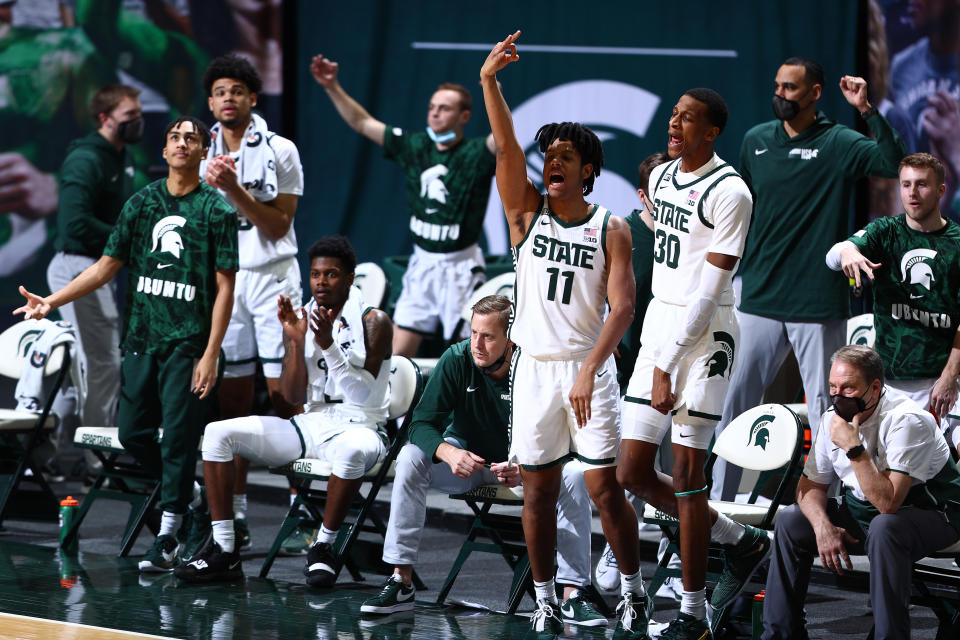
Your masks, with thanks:
<instances>
[{"instance_id":1,"label":"dark green pullover on seated maskless man beside number 11","mask_svg":"<svg viewBox=\"0 0 960 640\"><path fill-rule=\"evenodd\" d=\"M510 448L510 381L494 380L473 363L470 340L443 352L413 410L410 442L435 462L444 438L456 438L487 462L503 462Z\"/></svg>"}]
</instances>

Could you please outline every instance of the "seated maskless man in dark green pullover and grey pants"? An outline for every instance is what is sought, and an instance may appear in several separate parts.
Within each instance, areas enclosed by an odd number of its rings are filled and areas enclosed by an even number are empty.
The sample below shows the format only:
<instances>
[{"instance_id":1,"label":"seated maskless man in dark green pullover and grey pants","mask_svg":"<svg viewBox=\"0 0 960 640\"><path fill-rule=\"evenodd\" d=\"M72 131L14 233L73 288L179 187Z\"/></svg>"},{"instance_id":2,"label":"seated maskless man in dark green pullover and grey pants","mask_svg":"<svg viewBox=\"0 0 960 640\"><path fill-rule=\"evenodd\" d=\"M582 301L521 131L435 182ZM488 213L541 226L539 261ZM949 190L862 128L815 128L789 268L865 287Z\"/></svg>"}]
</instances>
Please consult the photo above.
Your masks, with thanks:
<instances>
[{"instance_id":1,"label":"seated maskless man in dark green pullover and grey pants","mask_svg":"<svg viewBox=\"0 0 960 640\"><path fill-rule=\"evenodd\" d=\"M464 493L485 484L507 487L520 481L520 468L506 460L510 447L508 374L513 343L507 337L511 302L500 295L473 306L470 339L446 350L413 412L410 442L397 456L383 561L394 573L363 613L413 609L413 564L426 519L427 489ZM452 420L451 420L452 416ZM488 468L489 467L489 468ZM583 469L564 467L557 511L557 582L564 584L564 620L605 625L578 593L590 584L590 498Z\"/></svg>"}]
</instances>

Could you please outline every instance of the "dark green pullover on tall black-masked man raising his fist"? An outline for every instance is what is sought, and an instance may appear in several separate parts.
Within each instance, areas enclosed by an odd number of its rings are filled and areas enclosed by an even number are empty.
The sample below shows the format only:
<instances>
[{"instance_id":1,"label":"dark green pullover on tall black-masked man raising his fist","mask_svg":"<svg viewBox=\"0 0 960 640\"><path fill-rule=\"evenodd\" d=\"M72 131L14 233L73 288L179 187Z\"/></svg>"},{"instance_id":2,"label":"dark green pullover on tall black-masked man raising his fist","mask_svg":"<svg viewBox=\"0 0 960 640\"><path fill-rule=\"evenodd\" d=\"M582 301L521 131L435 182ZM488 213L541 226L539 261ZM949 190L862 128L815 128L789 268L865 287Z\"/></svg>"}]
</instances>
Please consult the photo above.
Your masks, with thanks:
<instances>
[{"instance_id":1,"label":"dark green pullover on tall black-masked man raising his fist","mask_svg":"<svg viewBox=\"0 0 960 640\"><path fill-rule=\"evenodd\" d=\"M883 116L867 124L876 141L822 113L794 138L779 120L744 136L740 175L753 192L753 219L739 269L740 311L815 322L850 315L847 282L823 257L850 233L856 181L897 177L907 154Z\"/></svg>"}]
</instances>

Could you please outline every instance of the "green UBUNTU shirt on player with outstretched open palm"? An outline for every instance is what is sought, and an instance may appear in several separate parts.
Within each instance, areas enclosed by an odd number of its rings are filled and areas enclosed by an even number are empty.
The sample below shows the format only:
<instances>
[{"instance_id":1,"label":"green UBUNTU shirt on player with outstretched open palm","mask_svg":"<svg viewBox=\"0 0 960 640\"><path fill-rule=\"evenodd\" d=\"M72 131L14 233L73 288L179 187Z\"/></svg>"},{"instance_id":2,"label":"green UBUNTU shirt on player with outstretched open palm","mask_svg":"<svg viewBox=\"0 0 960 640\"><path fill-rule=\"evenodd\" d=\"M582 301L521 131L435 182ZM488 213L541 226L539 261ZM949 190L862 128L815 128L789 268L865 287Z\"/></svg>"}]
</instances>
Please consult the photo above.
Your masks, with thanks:
<instances>
[{"instance_id":1,"label":"green UBUNTU shirt on player with outstretched open palm","mask_svg":"<svg viewBox=\"0 0 960 640\"><path fill-rule=\"evenodd\" d=\"M166 178L130 198L104 255L127 265L122 348L166 355L174 347L203 355L210 337L216 272L236 271L237 213L200 182L173 196Z\"/></svg>"}]
</instances>

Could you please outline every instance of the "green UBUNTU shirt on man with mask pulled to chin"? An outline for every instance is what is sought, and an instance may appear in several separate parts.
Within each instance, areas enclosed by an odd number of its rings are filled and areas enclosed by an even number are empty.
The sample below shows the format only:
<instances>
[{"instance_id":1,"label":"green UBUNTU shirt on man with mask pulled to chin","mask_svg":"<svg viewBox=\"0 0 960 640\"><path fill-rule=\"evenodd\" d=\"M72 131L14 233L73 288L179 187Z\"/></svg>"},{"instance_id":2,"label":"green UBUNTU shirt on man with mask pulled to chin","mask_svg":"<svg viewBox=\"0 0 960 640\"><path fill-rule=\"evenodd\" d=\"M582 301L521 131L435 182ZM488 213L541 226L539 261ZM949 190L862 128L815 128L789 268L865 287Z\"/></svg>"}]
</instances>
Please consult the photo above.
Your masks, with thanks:
<instances>
[{"instance_id":1,"label":"green UBUNTU shirt on man with mask pulled to chin","mask_svg":"<svg viewBox=\"0 0 960 640\"><path fill-rule=\"evenodd\" d=\"M422 131L387 127L383 153L403 167L415 245L451 253L476 244L497 168L485 138L463 138L439 151Z\"/></svg>"}]
</instances>

